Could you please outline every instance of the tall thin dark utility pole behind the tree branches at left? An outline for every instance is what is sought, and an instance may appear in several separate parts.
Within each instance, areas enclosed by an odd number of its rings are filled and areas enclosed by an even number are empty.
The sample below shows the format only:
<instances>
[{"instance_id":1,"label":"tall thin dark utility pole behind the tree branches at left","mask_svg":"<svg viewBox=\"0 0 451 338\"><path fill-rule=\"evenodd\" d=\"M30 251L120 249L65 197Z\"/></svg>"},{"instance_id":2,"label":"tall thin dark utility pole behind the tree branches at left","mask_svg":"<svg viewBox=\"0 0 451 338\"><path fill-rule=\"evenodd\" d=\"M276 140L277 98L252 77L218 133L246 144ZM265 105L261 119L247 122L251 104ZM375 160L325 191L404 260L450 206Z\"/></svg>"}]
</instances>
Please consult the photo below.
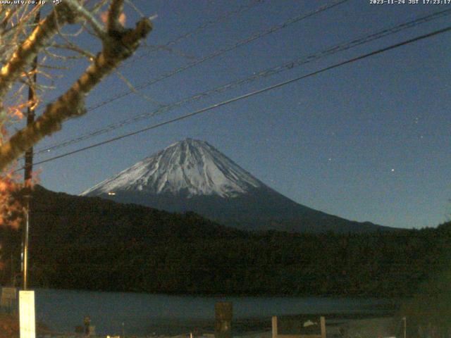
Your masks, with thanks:
<instances>
[{"instance_id":1,"label":"tall thin dark utility pole behind the tree branches at left","mask_svg":"<svg viewBox=\"0 0 451 338\"><path fill-rule=\"evenodd\" d=\"M35 8L37 8L37 2ZM39 25L41 19L41 11L38 10L35 15L35 26ZM36 102L36 81L37 81L37 56L33 59L31 65L32 77L28 86L28 106L27 106L27 125L35 122L35 102ZM33 147L25 151L25 194L24 194L24 211L25 211L25 234L23 239L22 253L22 272L23 272L23 289L27 289L28 281L28 232L30 231L30 199L31 199L31 179L33 171Z\"/></svg>"}]
</instances>

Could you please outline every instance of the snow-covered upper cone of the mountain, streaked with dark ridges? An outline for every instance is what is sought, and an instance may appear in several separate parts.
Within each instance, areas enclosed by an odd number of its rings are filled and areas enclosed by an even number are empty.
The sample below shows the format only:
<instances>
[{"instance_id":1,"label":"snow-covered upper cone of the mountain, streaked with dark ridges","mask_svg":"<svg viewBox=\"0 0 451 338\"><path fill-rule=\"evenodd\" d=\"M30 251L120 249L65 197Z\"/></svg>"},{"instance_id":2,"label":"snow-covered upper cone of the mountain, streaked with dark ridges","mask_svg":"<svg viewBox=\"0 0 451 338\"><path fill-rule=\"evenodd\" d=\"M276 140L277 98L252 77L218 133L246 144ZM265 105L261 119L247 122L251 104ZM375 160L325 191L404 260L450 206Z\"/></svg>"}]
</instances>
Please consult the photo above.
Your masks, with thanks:
<instances>
[{"instance_id":1,"label":"snow-covered upper cone of the mountain, streaked with dark ridges","mask_svg":"<svg viewBox=\"0 0 451 338\"><path fill-rule=\"evenodd\" d=\"M185 139L110 177L82 195L143 192L234 197L264 184L214 146Z\"/></svg>"}]
</instances>

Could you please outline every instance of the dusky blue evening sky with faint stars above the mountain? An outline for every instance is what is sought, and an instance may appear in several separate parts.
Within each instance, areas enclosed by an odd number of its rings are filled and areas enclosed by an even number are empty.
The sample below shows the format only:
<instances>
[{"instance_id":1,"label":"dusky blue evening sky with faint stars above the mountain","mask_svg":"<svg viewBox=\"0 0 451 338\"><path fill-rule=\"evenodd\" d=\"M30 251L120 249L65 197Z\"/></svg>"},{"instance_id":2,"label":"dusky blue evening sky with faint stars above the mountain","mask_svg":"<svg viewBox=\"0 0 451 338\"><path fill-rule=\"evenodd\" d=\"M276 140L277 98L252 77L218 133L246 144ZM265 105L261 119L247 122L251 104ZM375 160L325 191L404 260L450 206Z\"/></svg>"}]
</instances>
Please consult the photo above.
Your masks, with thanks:
<instances>
[{"instance_id":1,"label":"dusky blue evening sky with faint stars above the mountain","mask_svg":"<svg viewBox=\"0 0 451 338\"><path fill-rule=\"evenodd\" d=\"M148 44L166 42L254 1L135 1L157 14ZM149 54L145 47L121 73L140 85L202 59L331 1L261 1ZM450 5L369 4L350 0L328 11L239 46L140 90L171 104L260 70ZM422 1L421 1L422 2ZM128 24L136 17L128 9ZM225 99L319 70L347 58L432 32L450 17L424 23L283 73L208 96L169 113L140 120L48 156L131 132ZM92 39L83 39L89 45ZM451 212L451 33L402 46L362 61L218 108L204 115L39 165L42 184L78 194L169 144L204 139L282 194L311 208L351 220L395 227L435 226ZM85 65L75 65L79 70ZM62 80L63 89L76 71ZM126 91L112 75L88 106ZM72 139L119 120L147 113L156 104L130 94L64 125L37 148ZM47 155L46 155L47 156ZM37 156L36 161L47 158Z\"/></svg>"}]
</instances>

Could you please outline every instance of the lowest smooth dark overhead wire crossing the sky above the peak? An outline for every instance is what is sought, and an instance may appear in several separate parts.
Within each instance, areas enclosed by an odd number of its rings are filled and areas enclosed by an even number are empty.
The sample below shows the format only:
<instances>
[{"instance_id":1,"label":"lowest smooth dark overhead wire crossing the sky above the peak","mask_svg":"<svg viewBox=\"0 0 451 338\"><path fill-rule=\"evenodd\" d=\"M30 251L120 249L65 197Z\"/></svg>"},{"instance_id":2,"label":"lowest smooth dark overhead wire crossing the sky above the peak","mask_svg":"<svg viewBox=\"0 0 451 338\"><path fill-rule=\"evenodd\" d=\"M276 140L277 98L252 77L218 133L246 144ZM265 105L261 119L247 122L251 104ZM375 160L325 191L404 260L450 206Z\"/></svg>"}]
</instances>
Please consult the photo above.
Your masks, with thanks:
<instances>
[{"instance_id":1,"label":"lowest smooth dark overhead wire crossing the sky above the peak","mask_svg":"<svg viewBox=\"0 0 451 338\"><path fill-rule=\"evenodd\" d=\"M303 79L305 79L307 77L311 77L311 76L314 76L314 75L318 75L320 73L324 73L324 72L326 72L328 70L332 70L334 68L338 68L338 67L340 67L342 65L347 65L349 63L353 63L355 61L359 61L359 60L362 60L364 58L368 58L370 56L381 54L381 53L384 53L385 51L390 51L391 49L395 49L395 48L398 48L400 46L404 46L406 44L412 44L413 42L417 42L417 41L419 41L421 39L427 39L428 37L433 37L435 35L439 35L439 34L442 34L444 32L449 32L450 30L451 30L451 26L448 26L448 27L443 28L441 30L435 30L434 32L428 33L426 35L421 35L419 37L414 37L413 39L408 39L408 40L405 40L404 42L399 42L397 44L393 44L393 45L390 45L390 46L385 47L383 49L378 49L376 51L372 51L372 52L370 52L368 54L364 54L362 56L357 56L355 58L350 58L347 61L342 61L340 63L335 63L334 65L330 65L330 66L328 66L326 68L322 68L321 70L316 70L315 72L309 73L307 75L302 75L302 76L299 76L299 77L295 77L295 78L293 78L291 80L279 82L278 84L273 84L273 85L271 85L269 87L265 87L263 89L258 89L258 90L254 91L254 92L249 92L249 93L243 94L241 96L236 96L233 99L228 99L226 101L219 102L218 104L213 104L211 106L199 109L199 110L194 111L192 113L188 113L186 115L179 116L178 118L173 118L171 120L166 120L166 121L164 121L162 123L157 123L156 125L151 125L149 127L145 127L143 129L137 130L135 132L130 132L128 134L123 134L121 136L113 137L112 139L107 139L106 141L99 142L97 144L92 144L90 146L85 146L83 148L80 148L80 149L77 149L77 150L74 150L74 151L69 151L66 154L61 154L61 155L58 155L58 156L54 156L52 158L47 158L46 160L39 161L39 162L35 163L35 165L42 164L42 163L47 163L47 162L50 162L50 161L54 161L54 160L56 160L58 158L63 158L63 157L69 156L69 155L77 154L77 153L79 153L81 151L85 151L87 149L92 149L92 148L95 148L97 146L101 146L101 145L108 144L108 143L111 143L111 142L114 142L114 141L118 141L119 139L124 139L125 137L130 137L132 135L136 135L136 134L140 134L142 132L146 132L147 130L156 129L157 127L162 127L163 125L168 125L168 124L180 121L180 120L185 120L186 118L190 118L190 117L192 117L194 115L199 115L201 113L205 113L206 111L211 111L214 108L218 108L218 107L221 107L221 106L226 106L227 104L231 104L233 102L240 101L242 99L247 99L248 97L251 97L251 96L254 96L254 95L257 95L257 94L261 94L261 93L264 93L264 92L268 92L268 91L270 91L272 89L283 87L283 86L285 86L287 84L291 84L293 82L297 82L299 80L303 80ZM20 168L18 170L23 170L23 168ZM18 170L15 170L15 171L18 171Z\"/></svg>"}]
</instances>

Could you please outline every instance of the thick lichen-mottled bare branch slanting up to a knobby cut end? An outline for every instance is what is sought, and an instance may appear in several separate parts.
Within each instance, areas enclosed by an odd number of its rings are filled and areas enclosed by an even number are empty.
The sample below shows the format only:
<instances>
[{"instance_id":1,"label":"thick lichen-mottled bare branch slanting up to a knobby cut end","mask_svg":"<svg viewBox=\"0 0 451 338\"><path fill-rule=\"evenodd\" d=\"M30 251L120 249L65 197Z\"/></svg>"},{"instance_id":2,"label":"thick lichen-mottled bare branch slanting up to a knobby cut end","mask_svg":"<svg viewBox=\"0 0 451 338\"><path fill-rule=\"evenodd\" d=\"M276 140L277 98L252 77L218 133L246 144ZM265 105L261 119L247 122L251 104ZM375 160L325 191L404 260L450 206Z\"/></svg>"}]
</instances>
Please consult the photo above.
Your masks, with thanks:
<instances>
[{"instance_id":1,"label":"thick lichen-mottled bare branch slanting up to a knobby cut end","mask_svg":"<svg viewBox=\"0 0 451 338\"><path fill-rule=\"evenodd\" d=\"M109 20L110 18L118 20L117 13L121 13L122 2L121 0L112 1L110 10L113 10L115 14L109 15ZM55 23L49 23L48 26L56 30ZM36 32L36 35L45 34L45 30L42 31L40 27L42 27L42 24L37 27L39 31ZM107 30L108 37L103 40L103 50L96 56L85 73L78 78L65 94L49 104L35 123L16 132L6 144L0 147L0 170L4 170L9 163L23 154L30 146L39 142L40 139L60 130L64 120L77 115L84 115L86 113L85 96L106 75L111 73L121 61L135 52L140 40L147 37L152 30L152 23L147 18L143 18L137 23L135 29L126 30L119 23L107 25L107 27L113 28ZM118 27L121 27L121 29L117 30ZM42 38L44 39L44 37ZM28 42L28 44L32 43ZM32 47L28 46L27 49L30 48ZM34 46L34 48L36 49L37 46ZM16 65L17 67L19 66ZM11 66L7 70L11 71Z\"/></svg>"}]
</instances>

